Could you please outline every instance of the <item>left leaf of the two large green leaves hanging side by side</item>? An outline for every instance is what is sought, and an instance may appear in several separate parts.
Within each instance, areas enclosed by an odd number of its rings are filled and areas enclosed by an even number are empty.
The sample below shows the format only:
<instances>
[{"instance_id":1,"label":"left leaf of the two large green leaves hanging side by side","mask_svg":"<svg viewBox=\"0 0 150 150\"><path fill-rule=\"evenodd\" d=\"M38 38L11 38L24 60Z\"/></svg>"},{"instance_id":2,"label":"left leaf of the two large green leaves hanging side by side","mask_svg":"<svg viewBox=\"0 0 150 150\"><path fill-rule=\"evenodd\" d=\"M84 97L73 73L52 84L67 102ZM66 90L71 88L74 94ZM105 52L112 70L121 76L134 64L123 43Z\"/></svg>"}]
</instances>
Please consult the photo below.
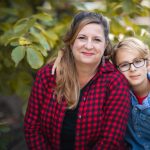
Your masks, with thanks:
<instances>
[{"instance_id":1,"label":"left leaf of the two large green leaves hanging side by side","mask_svg":"<svg viewBox=\"0 0 150 150\"><path fill-rule=\"evenodd\" d=\"M24 58L25 56L25 47L24 46L18 46L13 49L11 53L11 57L13 61L15 62L15 66L18 65L18 63Z\"/></svg>"}]
</instances>

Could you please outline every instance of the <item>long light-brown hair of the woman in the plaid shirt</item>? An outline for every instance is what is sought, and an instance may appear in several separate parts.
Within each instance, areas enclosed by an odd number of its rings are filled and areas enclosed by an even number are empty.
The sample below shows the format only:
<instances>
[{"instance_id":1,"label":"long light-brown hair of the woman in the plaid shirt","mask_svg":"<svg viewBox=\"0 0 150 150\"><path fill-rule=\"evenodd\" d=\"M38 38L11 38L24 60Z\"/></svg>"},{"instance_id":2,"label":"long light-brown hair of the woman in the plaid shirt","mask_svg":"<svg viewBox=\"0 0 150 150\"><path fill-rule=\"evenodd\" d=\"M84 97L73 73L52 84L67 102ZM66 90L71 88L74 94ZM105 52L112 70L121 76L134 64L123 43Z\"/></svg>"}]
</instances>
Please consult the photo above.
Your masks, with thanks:
<instances>
[{"instance_id":1,"label":"long light-brown hair of the woman in the plaid shirt","mask_svg":"<svg viewBox=\"0 0 150 150\"><path fill-rule=\"evenodd\" d=\"M65 47L62 49L63 55L57 68L56 88L58 102L64 98L67 101L68 108L73 109L77 106L80 96L80 84L75 66L74 56L71 45L74 43L81 29L90 23L96 23L103 27L107 47L104 55L110 55L111 44L108 37L109 25L107 20L100 14L94 12L78 13L70 26L70 29L64 37Z\"/></svg>"}]
</instances>

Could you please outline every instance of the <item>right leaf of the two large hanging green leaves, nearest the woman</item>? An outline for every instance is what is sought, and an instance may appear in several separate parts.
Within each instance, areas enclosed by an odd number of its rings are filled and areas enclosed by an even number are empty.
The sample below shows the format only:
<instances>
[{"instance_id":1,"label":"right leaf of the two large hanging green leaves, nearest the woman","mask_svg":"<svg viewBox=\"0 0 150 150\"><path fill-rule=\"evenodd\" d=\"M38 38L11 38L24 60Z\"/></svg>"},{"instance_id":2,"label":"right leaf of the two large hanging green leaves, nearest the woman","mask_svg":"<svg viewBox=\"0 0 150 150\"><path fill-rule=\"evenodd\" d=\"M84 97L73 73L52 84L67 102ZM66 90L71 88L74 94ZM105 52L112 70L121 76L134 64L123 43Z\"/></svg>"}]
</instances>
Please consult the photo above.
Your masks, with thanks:
<instances>
[{"instance_id":1,"label":"right leaf of the two large hanging green leaves, nearest the woman","mask_svg":"<svg viewBox=\"0 0 150 150\"><path fill-rule=\"evenodd\" d=\"M27 48L27 61L34 69L40 68L44 63L41 53L31 47Z\"/></svg>"}]
</instances>

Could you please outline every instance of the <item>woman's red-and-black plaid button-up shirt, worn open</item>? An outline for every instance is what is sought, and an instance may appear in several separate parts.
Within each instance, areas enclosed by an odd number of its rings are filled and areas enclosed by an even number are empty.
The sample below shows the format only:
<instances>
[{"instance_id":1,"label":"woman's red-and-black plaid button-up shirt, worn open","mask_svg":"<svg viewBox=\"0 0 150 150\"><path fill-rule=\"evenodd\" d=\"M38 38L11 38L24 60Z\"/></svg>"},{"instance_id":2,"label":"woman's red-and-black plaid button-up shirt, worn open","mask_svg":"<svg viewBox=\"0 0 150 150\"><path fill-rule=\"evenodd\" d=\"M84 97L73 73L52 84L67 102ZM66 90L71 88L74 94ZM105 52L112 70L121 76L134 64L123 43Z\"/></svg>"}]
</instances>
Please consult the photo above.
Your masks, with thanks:
<instances>
[{"instance_id":1,"label":"woman's red-and-black plaid button-up shirt, worn open","mask_svg":"<svg viewBox=\"0 0 150 150\"><path fill-rule=\"evenodd\" d=\"M59 150L66 102L57 103L55 76L46 65L37 73L24 120L31 150ZM120 150L128 120L130 98L124 76L106 62L84 88L77 113L75 150Z\"/></svg>"}]
</instances>

